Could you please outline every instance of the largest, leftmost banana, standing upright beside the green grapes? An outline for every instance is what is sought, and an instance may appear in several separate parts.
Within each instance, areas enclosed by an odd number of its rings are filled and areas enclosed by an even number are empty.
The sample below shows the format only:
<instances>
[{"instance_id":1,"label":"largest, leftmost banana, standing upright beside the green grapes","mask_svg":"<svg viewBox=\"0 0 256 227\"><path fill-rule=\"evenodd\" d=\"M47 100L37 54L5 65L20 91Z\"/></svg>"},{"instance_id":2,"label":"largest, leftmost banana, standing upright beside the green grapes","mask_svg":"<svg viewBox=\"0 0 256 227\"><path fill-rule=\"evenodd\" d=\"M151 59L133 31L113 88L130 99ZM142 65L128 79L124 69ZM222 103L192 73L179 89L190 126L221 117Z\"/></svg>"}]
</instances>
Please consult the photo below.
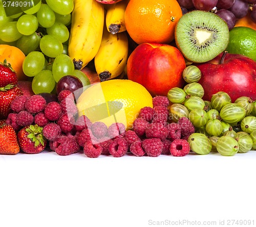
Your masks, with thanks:
<instances>
[{"instance_id":1,"label":"largest, leftmost banana, standing upright beside the green grapes","mask_svg":"<svg viewBox=\"0 0 256 227\"><path fill-rule=\"evenodd\" d=\"M95 0L74 0L68 55L86 66L97 54L104 26L103 4Z\"/></svg>"}]
</instances>

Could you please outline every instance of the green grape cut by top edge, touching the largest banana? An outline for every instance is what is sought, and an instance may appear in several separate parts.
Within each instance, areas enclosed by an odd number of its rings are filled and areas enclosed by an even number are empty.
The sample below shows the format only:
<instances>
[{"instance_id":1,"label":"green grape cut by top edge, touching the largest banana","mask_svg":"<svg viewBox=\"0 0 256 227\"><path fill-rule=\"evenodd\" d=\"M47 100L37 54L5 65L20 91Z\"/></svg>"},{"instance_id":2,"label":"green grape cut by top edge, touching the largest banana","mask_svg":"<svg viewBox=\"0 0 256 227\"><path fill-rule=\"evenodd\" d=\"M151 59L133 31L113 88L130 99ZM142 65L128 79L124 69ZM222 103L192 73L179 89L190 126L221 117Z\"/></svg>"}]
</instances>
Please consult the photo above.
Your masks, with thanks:
<instances>
[{"instance_id":1,"label":"green grape cut by top edge, touching the largest banana","mask_svg":"<svg viewBox=\"0 0 256 227\"><path fill-rule=\"evenodd\" d=\"M46 0L46 2L54 12L61 15L69 14L74 9L72 0Z\"/></svg>"}]
</instances>

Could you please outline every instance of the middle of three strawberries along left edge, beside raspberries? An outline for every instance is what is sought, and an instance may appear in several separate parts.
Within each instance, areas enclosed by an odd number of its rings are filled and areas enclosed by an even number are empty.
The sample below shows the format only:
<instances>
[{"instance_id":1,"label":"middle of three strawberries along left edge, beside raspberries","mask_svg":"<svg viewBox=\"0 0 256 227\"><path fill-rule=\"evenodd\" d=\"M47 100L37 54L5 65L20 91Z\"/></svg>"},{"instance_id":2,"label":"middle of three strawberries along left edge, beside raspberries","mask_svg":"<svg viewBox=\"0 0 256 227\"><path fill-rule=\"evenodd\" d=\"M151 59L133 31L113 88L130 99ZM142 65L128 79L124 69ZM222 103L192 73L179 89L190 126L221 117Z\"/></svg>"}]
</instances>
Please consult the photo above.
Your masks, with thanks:
<instances>
[{"instance_id":1,"label":"middle of three strawberries along left edge, beside raspberries","mask_svg":"<svg viewBox=\"0 0 256 227\"><path fill-rule=\"evenodd\" d=\"M0 87L0 119L6 119L11 110L11 102L16 96L23 95L22 90L17 86L8 84Z\"/></svg>"}]
</instances>

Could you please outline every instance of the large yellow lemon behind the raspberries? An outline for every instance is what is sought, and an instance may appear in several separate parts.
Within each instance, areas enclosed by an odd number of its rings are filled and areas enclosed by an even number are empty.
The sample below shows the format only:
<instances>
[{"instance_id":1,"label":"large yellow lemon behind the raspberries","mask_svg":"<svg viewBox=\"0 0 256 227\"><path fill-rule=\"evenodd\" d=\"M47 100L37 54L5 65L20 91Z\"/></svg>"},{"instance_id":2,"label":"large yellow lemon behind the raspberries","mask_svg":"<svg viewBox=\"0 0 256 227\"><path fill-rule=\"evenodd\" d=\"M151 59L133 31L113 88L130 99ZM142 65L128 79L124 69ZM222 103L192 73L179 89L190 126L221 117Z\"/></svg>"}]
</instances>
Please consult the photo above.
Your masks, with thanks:
<instances>
[{"instance_id":1,"label":"large yellow lemon behind the raspberries","mask_svg":"<svg viewBox=\"0 0 256 227\"><path fill-rule=\"evenodd\" d=\"M123 123L131 129L140 109L153 107L152 96L144 86L131 80L113 79L93 84L77 100L78 115L92 122Z\"/></svg>"}]
</instances>

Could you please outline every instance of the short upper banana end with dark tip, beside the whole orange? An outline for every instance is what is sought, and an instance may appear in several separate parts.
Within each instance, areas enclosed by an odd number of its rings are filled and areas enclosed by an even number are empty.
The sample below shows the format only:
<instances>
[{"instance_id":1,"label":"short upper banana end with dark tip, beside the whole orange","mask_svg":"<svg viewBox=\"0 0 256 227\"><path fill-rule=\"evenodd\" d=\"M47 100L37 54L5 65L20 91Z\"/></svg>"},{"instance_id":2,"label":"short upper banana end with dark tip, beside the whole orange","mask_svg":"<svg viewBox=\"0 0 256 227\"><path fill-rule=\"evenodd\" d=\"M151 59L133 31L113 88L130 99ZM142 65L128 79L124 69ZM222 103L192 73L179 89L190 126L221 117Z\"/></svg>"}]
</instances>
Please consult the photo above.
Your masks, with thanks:
<instances>
[{"instance_id":1,"label":"short upper banana end with dark tip, beside the whole orange","mask_svg":"<svg viewBox=\"0 0 256 227\"><path fill-rule=\"evenodd\" d=\"M108 5L106 11L106 28L111 34L126 31L124 22L124 11L130 0Z\"/></svg>"}]
</instances>

